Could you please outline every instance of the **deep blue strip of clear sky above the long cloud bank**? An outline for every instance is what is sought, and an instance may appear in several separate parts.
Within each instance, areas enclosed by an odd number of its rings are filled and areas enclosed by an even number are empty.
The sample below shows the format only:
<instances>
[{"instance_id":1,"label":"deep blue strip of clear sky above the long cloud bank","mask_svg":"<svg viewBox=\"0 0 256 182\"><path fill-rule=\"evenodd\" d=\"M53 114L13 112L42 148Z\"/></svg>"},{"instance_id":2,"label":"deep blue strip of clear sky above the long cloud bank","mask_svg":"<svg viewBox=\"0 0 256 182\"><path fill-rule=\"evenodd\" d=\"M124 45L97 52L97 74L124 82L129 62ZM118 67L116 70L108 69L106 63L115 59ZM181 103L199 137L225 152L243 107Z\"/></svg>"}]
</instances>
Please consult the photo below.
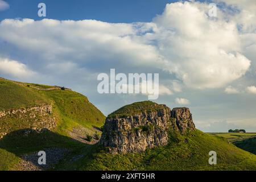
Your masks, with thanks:
<instances>
[{"instance_id":1,"label":"deep blue strip of clear sky above the long cloud bank","mask_svg":"<svg viewBox=\"0 0 256 182\"><path fill-rule=\"evenodd\" d=\"M0 19L31 18L37 16L38 3L47 5L47 18L58 20L97 19L112 23L150 22L156 14L161 14L170 0L7 0L11 9L1 13Z\"/></svg>"}]
</instances>

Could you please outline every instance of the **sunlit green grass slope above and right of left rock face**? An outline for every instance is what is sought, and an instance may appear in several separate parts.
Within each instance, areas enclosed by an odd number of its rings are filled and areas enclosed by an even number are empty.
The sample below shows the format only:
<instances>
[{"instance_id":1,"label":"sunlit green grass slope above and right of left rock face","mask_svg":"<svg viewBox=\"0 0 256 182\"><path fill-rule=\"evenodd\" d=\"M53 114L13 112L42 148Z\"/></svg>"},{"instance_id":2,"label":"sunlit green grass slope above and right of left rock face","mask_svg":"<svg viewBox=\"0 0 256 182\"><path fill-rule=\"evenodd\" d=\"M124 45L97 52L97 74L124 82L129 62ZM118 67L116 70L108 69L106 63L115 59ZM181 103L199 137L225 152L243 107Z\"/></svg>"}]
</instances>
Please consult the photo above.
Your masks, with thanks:
<instances>
[{"instance_id":1,"label":"sunlit green grass slope above and right of left rock face","mask_svg":"<svg viewBox=\"0 0 256 182\"><path fill-rule=\"evenodd\" d=\"M31 88L32 85L33 88ZM42 86L52 89L41 90ZM0 79L0 110L28 108L44 104L53 105L53 114L57 118L58 129L70 130L75 125L88 128L100 127L105 121L104 114L80 93L68 89L61 90L55 86ZM4 127L9 127L9 123L11 121L6 122ZM20 125L17 129L24 129L24 127Z\"/></svg>"}]
</instances>

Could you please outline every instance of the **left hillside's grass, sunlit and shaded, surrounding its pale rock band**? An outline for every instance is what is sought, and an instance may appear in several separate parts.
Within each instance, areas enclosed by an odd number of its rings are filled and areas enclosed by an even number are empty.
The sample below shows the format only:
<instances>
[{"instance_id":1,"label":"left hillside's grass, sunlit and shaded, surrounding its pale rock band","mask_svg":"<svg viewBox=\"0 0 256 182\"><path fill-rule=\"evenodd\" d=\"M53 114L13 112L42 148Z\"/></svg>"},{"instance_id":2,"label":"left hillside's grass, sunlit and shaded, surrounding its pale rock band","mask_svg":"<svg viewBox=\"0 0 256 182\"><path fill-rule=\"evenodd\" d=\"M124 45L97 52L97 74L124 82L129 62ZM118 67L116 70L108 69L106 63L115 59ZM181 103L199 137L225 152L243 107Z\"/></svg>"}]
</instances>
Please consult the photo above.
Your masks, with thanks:
<instances>
[{"instance_id":1,"label":"left hillside's grass, sunlit and shaded, surrounding its pale rock band","mask_svg":"<svg viewBox=\"0 0 256 182\"><path fill-rule=\"evenodd\" d=\"M0 118L2 128L14 129L0 140L0 170L12 169L19 162L20 156L45 148L64 147L72 152L80 151L87 145L69 137L69 131L75 127L83 127L94 132L105 121L104 114L80 93L61 90L56 86L0 79L0 110L44 104L53 106L52 114L57 121L57 127L53 131L27 132L24 129L27 130L29 118Z\"/></svg>"}]
</instances>

